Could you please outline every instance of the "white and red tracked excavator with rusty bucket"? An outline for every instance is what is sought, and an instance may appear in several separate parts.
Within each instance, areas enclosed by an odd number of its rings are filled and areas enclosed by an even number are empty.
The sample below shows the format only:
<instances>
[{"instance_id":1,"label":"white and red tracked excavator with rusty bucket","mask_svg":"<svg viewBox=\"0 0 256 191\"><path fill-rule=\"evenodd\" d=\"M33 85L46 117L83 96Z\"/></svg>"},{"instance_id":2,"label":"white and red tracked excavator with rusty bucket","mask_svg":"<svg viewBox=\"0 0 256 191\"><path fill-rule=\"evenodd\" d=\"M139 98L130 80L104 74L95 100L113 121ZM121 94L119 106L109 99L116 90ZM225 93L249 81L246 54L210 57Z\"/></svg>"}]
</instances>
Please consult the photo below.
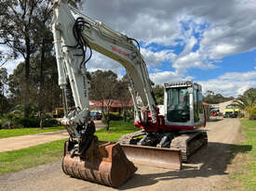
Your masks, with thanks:
<instances>
[{"instance_id":1,"label":"white and red tracked excavator with rusty bucket","mask_svg":"<svg viewBox=\"0 0 256 191\"><path fill-rule=\"evenodd\" d=\"M64 173L118 187L137 171L134 163L180 170L182 161L207 145L207 134L199 129L206 125L200 84L165 83L164 108L160 111L137 40L88 18L65 0L54 3L51 28L63 97L61 123L69 134L61 162ZM94 135L87 76L92 50L114 59L127 71L134 125L141 131L122 136L118 143L100 141ZM72 111L67 104L67 80L74 97Z\"/></svg>"}]
</instances>

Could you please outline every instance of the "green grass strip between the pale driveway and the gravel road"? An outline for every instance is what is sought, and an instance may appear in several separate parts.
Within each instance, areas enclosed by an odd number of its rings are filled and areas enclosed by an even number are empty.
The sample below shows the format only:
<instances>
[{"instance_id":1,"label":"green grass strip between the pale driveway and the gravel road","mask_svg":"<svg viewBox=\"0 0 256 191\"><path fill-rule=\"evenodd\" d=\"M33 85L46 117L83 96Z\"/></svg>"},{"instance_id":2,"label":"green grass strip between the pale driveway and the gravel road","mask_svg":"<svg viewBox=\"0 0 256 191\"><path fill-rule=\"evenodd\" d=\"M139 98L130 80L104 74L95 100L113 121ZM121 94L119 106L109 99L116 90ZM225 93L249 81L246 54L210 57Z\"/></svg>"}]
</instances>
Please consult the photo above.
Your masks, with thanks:
<instances>
[{"instance_id":1,"label":"green grass strip between the pale driveway and the gravel road","mask_svg":"<svg viewBox=\"0 0 256 191\"><path fill-rule=\"evenodd\" d=\"M115 142L121 135L137 130L139 129L135 128L132 122L111 121L109 133L106 133L105 129L101 129L97 131L96 135L101 141ZM65 139L62 139L39 146L0 153L0 175L60 160L64 141Z\"/></svg>"}]
</instances>

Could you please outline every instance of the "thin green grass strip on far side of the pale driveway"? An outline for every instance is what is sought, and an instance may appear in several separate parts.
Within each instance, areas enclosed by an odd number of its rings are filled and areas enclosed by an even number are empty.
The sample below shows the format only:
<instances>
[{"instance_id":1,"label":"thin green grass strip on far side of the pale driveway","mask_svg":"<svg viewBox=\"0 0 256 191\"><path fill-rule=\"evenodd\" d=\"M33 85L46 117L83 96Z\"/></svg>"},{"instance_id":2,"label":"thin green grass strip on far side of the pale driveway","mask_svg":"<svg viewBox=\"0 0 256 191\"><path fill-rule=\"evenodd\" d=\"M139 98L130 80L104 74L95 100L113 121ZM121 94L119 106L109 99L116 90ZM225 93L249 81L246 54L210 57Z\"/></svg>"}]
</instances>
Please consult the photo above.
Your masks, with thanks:
<instances>
[{"instance_id":1,"label":"thin green grass strip on far side of the pale driveway","mask_svg":"<svg viewBox=\"0 0 256 191\"><path fill-rule=\"evenodd\" d=\"M21 136L21 135L27 135L27 134L42 134L47 132L59 131L63 129L64 129L63 126L44 127L44 130L41 130L40 128L2 129L0 130L0 138Z\"/></svg>"}]
</instances>

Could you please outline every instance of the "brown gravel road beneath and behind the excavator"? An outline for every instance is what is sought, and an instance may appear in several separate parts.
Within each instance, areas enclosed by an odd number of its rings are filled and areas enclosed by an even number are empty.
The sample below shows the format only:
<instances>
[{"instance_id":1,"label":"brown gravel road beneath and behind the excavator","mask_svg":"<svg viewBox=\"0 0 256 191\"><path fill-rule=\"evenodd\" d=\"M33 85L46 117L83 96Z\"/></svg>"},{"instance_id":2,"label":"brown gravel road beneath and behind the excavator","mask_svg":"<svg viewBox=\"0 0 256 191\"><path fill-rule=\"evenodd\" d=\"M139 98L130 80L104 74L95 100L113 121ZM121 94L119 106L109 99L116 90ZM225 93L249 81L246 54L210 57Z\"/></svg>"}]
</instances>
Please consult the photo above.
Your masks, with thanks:
<instances>
[{"instance_id":1,"label":"brown gravel road beneath and behind the excavator","mask_svg":"<svg viewBox=\"0 0 256 191\"><path fill-rule=\"evenodd\" d=\"M209 121L209 146L197 152L182 171L136 165L138 171L119 190L228 190L230 146L236 143L239 121ZM236 144L235 144L236 145ZM61 161L0 176L0 190L115 190L70 178L61 172Z\"/></svg>"}]
</instances>

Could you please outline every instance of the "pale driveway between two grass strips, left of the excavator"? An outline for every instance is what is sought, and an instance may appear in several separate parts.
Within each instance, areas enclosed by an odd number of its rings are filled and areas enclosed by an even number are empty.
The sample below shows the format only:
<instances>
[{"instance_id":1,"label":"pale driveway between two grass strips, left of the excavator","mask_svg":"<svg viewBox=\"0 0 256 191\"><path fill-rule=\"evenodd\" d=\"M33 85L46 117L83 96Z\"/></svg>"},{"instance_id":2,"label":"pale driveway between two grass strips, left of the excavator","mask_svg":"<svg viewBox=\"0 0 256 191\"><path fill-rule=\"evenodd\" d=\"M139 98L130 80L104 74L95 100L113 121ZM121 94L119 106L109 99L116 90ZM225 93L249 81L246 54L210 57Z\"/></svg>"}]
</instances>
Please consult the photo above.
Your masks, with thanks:
<instances>
[{"instance_id":1,"label":"pale driveway between two grass strips, left of the excavator","mask_svg":"<svg viewBox=\"0 0 256 191\"><path fill-rule=\"evenodd\" d=\"M96 130L100 130L105 126L103 123L101 123L101 121L95 121L95 125ZM31 131L33 131L33 129ZM64 138L68 138L68 133L66 130L2 138L0 139L0 153L9 150L18 150L20 148L26 148L30 146L37 146Z\"/></svg>"}]
</instances>

